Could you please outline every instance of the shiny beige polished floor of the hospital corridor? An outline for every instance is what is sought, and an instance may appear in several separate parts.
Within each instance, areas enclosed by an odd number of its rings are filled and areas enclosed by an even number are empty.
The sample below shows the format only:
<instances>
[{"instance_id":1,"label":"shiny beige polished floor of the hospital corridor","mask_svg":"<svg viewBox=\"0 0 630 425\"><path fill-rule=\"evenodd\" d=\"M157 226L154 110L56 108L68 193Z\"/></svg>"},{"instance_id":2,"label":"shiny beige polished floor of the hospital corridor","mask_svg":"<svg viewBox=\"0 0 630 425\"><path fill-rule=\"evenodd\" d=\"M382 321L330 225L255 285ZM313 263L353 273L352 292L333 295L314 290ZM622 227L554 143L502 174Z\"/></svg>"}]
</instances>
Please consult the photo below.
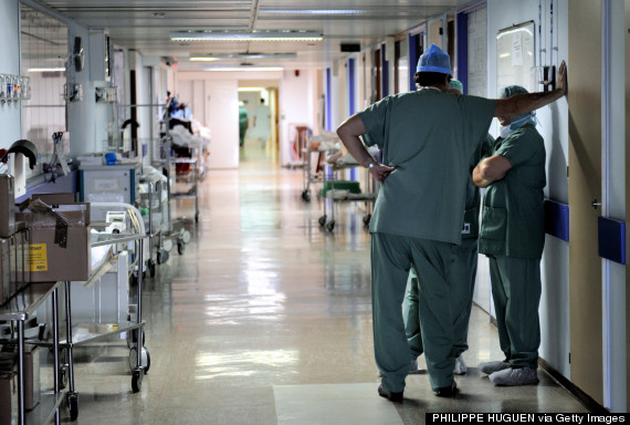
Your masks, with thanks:
<instances>
[{"instance_id":1,"label":"shiny beige polished floor of the hospital corridor","mask_svg":"<svg viewBox=\"0 0 630 425\"><path fill-rule=\"evenodd\" d=\"M379 397L363 206L335 205L329 232L316 190L311 203L302 190L302 170L253 143L240 169L208 173L185 253L174 250L145 282L141 391L132 393L124 343L77 349L77 424L416 425L427 412L587 412L543 372L526 387L482 375L475 365L501 355L476 308L456 398L434 396L426 373L407 379L403 403ZM176 211L191 217L192 204Z\"/></svg>"}]
</instances>

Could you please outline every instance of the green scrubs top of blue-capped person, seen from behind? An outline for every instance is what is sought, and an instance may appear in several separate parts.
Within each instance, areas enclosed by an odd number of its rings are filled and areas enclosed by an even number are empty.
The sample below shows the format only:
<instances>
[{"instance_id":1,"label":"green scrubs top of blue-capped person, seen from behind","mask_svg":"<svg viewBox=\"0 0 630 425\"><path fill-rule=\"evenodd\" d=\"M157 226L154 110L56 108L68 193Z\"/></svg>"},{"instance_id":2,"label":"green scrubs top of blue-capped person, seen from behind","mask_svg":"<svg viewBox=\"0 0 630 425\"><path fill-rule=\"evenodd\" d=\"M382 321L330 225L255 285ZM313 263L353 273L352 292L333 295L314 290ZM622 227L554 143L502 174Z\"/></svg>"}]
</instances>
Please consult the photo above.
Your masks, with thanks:
<instances>
[{"instance_id":1,"label":"green scrubs top of blue-capped person, seen from behind","mask_svg":"<svg viewBox=\"0 0 630 425\"><path fill-rule=\"evenodd\" d=\"M495 103L424 89L359 113L367 143L397 167L380 187L370 232L461 242L469 163Z\"/></svg>"}]
</instances>

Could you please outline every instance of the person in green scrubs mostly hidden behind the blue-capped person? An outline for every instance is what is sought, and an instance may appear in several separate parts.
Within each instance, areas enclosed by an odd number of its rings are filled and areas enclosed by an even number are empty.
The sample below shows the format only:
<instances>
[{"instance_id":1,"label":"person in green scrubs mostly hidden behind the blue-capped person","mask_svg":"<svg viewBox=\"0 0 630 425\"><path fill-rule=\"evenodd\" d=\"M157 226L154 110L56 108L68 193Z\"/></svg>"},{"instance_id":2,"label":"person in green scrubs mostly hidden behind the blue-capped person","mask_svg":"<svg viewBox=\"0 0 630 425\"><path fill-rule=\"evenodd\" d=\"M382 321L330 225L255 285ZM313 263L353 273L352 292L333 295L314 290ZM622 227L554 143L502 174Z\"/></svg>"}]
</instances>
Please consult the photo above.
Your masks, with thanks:
<instances>
[{"instance_id":1,"label":"person in green scrubs mostly hidden behind the blue-capped person","mask_svg":"<svg viewBox=\"0 0 630 425\"><path fill-rule=\"evenodd\" d=\"M459 80L451 79L449 93L463 94L463 85ZM486 134L477 144L471 158L470 172L479 164L481 158L490 151L494 144L494 138ZM469 175L465 194L464 224L461 230L462 242L455 248L455 260L450 265L448 282L451 287L451 302L453 314L453 346L455 355L455 367L453 373L462 375L468 372L462 353L469 349L468 333L469 321L472 310L472 298L474 283L476 280L477 248L476 238L479 234L479 207L480 190L473 185ZM409 284L405 296L405 332L411 349L411 364L409 373L418 372L418 357L423 353L422 332L419 317L419 282L413 268L409 272Z\"/></svg>"}]
</instances>

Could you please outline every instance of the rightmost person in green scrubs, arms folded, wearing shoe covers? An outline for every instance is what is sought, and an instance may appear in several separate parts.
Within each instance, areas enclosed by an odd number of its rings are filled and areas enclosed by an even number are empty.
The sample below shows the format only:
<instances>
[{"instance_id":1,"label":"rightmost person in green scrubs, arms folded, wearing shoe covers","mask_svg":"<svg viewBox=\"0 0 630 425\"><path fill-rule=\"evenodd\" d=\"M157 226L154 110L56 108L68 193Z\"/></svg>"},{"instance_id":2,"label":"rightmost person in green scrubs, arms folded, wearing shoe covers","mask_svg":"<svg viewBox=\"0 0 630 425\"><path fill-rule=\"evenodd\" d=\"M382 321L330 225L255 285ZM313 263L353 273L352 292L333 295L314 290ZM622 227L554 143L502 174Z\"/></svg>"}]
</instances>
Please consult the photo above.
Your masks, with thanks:
<instances>
[{"instance_id":1,"label":"rightmost person in green scrubs, arms folded, wearing shoe covers","mask_svg":"<svg viewBox=\"0 0 630 425\"><path fill-rule=\"evenodd\" d=\"M527 93L518 85L500 97ZM481 363L496 385L538 383L540 257L545 243L545 143L534 113L500 116L498 137L473 170L485 187L479 251L490 260L492 297L504 361Z\"/></svg>"}]
</instances>

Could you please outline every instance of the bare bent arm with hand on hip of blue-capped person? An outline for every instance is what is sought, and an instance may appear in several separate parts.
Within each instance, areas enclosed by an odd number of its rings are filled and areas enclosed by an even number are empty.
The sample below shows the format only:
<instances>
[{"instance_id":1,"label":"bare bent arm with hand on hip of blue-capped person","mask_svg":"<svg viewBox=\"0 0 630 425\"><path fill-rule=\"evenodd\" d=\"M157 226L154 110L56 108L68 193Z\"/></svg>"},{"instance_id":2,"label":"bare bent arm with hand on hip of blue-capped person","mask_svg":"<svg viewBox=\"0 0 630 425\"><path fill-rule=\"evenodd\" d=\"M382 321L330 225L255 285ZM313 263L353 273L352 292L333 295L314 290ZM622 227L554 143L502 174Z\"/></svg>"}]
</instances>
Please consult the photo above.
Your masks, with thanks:
<instances>
[{"instance_id":1,"label":"bare bent arm with hand on hip of blue-capped person","mask_svg":"<svg viewBox=\"0 0 630 425\"><path fill-rule=\"evenodd\" d=\"M366 127L364 122L358 114L350 116L348 120L344 121L342 125L337 128L337 136L342 139L348 153L364 167L369 167L369 174L372 175L378 182L382 183L389 173L393 172L395 167L388 167L387 165L379 164L370 154L367 152L365 145L363 144L359 136L366 134ZM370 164L374 164L370 167Z\"/></svg>"}]
</instances>

